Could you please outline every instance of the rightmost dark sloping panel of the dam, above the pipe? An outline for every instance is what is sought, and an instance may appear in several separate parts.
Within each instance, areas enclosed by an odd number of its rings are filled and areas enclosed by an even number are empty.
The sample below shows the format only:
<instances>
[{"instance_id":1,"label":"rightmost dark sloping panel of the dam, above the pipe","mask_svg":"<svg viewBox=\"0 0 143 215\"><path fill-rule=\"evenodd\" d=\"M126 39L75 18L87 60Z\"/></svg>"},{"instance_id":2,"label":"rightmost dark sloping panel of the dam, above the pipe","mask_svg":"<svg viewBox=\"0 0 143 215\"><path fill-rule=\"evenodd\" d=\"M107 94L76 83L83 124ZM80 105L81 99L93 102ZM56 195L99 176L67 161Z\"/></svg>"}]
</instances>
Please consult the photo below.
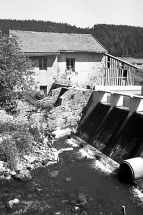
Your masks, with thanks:
<instances>
[{"instance_id":1,"label":"rightmost dark sloping panel of the dam, above the pipe","mask_svg":"<svg viewBox=\"0 0 143 215\"><path fill-rule=\"evenodd\" d=\"M135 157L143 143L143 115L134 113L127 121L123 131L114 140L107 152L113 160L121 162Z\"/></svg>"}]
</instances>

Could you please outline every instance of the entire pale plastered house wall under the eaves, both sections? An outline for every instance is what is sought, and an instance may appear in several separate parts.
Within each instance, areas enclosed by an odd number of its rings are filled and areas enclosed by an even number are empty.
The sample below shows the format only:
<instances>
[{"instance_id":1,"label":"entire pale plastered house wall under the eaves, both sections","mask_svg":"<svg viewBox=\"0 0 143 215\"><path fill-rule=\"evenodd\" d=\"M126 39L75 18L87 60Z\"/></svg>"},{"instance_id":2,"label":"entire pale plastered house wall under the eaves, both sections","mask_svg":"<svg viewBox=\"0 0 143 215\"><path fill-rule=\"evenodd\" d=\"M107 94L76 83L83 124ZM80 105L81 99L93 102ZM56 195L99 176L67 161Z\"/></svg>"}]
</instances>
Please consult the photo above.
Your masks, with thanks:
<instances>
[{"instance_id":1,"label":"entire pale plastered house wall under the eaves, both sections","mask_svg":"<svg viewBox=\"0 0 143 215\"><path fill-rule=\"evenodd\" d=\"M104 55L100 53L60 53L47 56L47 70L39 70L39 58L32 57L35 64L35 82L47 86L49 92L53 83L84 87L103 84ZM66 59L75 59L75 71L66 69Z\"/></svg>"}]
</instances>

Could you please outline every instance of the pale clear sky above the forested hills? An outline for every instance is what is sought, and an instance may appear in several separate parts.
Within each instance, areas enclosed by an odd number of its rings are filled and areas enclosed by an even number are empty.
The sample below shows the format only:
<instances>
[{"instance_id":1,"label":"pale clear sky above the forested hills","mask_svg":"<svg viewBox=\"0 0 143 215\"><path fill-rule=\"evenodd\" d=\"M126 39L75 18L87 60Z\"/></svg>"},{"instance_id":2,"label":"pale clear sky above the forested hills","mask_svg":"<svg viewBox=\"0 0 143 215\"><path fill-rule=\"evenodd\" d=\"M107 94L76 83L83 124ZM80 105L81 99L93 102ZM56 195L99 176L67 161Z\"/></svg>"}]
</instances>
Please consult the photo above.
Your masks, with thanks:
<instances>
[{"instance_id":1,"label":"pale clear sky above the forested hills","mask_svg":"<svg viewBox=\"0 0 143 215\"><path fill-rule=\"evenodd\" d=\"M0 19L143 27L143 0L0 0Z\"/></svg>"}]
</instances>

